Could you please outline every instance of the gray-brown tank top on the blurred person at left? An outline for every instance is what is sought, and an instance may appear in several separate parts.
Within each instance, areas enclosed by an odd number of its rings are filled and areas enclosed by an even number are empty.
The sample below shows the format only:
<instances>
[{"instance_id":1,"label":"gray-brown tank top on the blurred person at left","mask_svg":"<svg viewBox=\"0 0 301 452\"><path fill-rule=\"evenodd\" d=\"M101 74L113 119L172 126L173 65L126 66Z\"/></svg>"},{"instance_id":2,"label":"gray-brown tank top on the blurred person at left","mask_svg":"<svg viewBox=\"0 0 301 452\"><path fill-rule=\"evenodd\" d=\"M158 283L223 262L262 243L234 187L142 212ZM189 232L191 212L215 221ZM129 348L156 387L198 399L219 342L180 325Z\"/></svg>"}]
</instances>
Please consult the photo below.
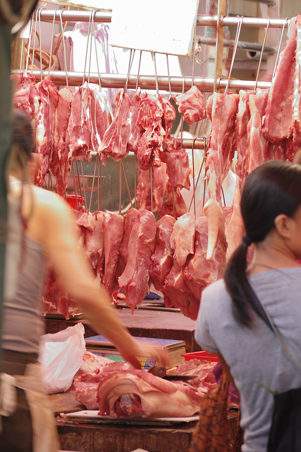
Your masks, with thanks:
<instances>
[{"instance_id":1,"label":"gray-brown tank top on the blurred person at left","mask_svg":"<svg viewBox=\"0 0 301 452\"><path fill-rule=\"evenodd\" d=\"M9 203L2 347L39 353L45 257L41 244L23 231L18 204Z\"/></svg>"}]
</instances>

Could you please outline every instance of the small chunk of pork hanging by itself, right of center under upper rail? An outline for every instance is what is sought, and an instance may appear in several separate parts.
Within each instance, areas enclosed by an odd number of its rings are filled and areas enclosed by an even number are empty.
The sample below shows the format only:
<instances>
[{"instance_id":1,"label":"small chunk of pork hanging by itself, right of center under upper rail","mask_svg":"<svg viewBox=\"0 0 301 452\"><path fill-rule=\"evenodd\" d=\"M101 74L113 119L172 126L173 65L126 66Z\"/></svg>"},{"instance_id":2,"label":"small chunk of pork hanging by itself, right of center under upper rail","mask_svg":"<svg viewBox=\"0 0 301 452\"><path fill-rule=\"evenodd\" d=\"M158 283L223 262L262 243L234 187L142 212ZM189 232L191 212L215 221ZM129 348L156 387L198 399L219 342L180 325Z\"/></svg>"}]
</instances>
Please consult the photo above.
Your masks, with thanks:
<instances>
[{"instance_id":1,"label":"small chunk of pork hanging by itself, right of center under upper rail","mask_svg":"<svg viewBox=\"0 0 301 452\"><path fill-rule=\"evenodd\" d=\"M187 124L191 125L206 117L203 93L195 85L184 94L175 94L173 98Z\"/></svg>"}]
</instances>

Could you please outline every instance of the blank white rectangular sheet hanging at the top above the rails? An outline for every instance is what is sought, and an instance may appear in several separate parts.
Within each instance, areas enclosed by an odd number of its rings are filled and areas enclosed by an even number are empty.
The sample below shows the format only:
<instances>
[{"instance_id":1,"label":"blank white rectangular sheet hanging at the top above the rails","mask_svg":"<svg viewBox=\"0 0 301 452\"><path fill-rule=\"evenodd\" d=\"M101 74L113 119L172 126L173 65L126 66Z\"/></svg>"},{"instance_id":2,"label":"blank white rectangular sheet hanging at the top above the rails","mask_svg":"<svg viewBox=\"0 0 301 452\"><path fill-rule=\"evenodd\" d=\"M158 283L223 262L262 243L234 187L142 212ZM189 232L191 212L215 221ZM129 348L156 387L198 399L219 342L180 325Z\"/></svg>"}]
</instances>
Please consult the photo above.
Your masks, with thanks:
<instances>
[{"instance_id":1,"label":"blank white rectangular sheet hanging at the top above the rails","mask_svg":"<svg viewBox=\"0 0 301 452\"><path fill-rule=\"evenodd\" d=\"M112 46L190 56L198 0L115 0Z\"/></svg>"}]
</instances>

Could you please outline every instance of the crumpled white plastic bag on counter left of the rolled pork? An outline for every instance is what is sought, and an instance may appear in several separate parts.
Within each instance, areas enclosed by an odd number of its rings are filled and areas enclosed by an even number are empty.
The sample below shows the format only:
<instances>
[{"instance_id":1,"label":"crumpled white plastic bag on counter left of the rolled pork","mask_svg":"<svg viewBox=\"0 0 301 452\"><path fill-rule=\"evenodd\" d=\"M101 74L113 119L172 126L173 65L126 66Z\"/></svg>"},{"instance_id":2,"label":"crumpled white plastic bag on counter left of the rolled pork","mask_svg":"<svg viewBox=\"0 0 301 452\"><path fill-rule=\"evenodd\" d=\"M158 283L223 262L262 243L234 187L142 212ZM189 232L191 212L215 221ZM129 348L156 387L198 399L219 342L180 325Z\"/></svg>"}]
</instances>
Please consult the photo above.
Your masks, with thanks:
<instances>
[{"instance_id":1,"label":"crumpled white plastic bag on counter left of the rolled pork","mask_svg":"<svg viewBox=\"0 0 301 452\"><path fill-rule=\"evenodd\" d=\"M48 394L66 391L86 351L81 323L41 338L40 363Z\"/></svg>"}]
</instances>

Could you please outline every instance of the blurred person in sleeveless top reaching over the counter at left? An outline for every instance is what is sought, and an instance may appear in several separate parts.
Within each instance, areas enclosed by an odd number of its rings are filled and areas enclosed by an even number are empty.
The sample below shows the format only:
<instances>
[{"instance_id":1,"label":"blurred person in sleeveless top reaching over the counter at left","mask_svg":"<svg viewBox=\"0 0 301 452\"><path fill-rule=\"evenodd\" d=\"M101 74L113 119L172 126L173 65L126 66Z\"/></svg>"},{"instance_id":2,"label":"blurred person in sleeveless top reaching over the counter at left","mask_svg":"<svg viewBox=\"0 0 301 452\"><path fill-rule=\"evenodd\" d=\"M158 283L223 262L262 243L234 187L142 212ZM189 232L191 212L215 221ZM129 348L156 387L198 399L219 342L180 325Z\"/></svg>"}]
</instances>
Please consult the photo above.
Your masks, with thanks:
<instances>
[{"instance_id":1,"label":"blurred person in sleeveless top reaching over the counter at left","mask_svg":"<svg viewBox=\"0 0 301 452\"><path fill-rule=\"evenodd\" d=\"M0 450L52 452L59 448L54 414L38 364L44 334L41 294L46 264L62 288L84 311L95 332L109 339L125 361L140 368L137 357L167 364L159 348L140 345L122 325L111 299L79 248L75 221L65 200L31 183L36 165L30 119L13 111L9 158L8 237L3 306ZM16 379L11 376L16 376ZM17 387L17 406L10 399Z\"/></svg>"}]
</instances>

